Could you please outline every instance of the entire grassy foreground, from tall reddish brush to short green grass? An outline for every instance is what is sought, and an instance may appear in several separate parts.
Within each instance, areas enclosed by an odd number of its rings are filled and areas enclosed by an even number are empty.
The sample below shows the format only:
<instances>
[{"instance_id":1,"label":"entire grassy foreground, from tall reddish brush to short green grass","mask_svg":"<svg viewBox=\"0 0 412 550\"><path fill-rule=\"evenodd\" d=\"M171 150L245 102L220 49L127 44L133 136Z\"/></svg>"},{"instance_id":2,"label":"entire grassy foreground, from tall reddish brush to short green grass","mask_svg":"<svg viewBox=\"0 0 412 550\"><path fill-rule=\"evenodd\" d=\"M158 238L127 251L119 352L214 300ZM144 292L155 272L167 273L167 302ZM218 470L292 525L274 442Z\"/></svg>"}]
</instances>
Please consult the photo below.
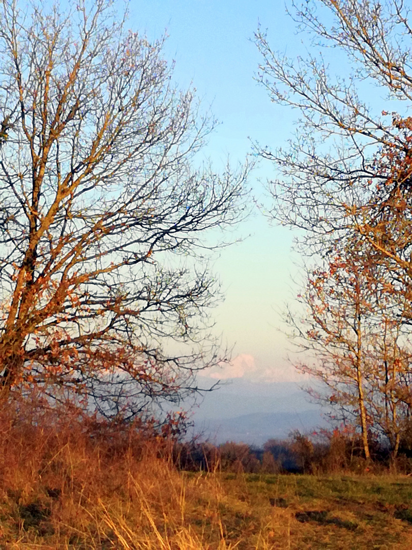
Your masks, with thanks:
<instances>
[{"instance_id":1,"label":"entire grassy foreground, from tall reddish brush to short green grass","mask_svg":"<svg viewBox=\"0 0 412 550\"><path fill-rule=\"evenodd\" d=\"M412 548L409 477L179 472L162 438L70 415L0 433L1 548Z\"/></svg>"}]
</instances>

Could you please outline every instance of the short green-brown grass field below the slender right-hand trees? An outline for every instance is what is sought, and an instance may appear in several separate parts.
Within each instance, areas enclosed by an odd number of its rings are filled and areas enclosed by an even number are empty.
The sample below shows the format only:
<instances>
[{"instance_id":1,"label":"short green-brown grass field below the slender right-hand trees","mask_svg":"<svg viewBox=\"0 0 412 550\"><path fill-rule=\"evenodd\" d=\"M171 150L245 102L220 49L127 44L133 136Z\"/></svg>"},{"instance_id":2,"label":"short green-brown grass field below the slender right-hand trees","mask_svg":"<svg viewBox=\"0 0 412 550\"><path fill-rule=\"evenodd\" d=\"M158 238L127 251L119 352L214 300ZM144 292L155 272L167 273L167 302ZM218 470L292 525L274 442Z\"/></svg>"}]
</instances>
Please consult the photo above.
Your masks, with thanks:
<instances>
[{"instance_id":1,"label":"short green-brown grass field below the slender right-hand trees","mask_svg":"<svg viewBox=\"0 0 412 550\"><path fill-rule=\"evenodd\" d=\"M243 485L252 513L263 519L271 505L261 548L412 548L407 477L249 475Z\"/></svg>"}]
</instances>

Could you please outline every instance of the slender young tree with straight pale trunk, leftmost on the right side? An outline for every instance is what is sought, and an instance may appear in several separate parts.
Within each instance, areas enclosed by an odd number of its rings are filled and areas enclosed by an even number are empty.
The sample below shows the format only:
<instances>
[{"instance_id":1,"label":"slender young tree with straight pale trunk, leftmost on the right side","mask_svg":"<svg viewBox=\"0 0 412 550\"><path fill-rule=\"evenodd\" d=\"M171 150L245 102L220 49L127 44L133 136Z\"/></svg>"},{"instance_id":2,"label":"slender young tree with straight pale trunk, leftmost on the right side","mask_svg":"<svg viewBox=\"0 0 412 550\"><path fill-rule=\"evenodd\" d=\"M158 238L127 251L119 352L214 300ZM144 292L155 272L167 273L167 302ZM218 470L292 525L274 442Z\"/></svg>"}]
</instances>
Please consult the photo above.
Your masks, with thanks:
<instances>
[{"instance_id":1,"label":"slender young tree with straight pale trunk, leftmost on the right side","mask_svg":"<svg viewBox=\"0 0 412 550\"><path fill-rule=\"evenodd\" d=\"M305 292L299 295L307 315L299 319L289 312L287 322L294 329L299 348L311 351L314 362L296 366L325 384L326 402L342 411L343 420L349 418L360 426L365 458L370 459L368 433L372 421L367 387L372 370L372 311L368 298L373 287L359 263L339 252L321 268L308 270L307 276Z\"/></svg>"}]
</instances>

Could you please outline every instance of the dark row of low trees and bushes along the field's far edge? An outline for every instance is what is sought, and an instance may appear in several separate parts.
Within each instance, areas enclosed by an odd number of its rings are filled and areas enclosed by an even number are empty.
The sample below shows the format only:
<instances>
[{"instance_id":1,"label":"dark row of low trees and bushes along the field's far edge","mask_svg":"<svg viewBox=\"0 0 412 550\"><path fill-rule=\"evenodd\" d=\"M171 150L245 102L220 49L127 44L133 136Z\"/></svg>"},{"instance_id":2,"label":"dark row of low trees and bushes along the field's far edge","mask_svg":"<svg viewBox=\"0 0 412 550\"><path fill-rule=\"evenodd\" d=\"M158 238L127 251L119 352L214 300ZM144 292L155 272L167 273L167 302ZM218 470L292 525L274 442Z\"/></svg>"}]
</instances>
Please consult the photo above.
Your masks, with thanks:
<instances>
[{"instance_id":1,"label":"dark row of low trees and bushes along the field's far edge","mask_svg":"<svg viewBox=\"0 0 412 550\"><path fill-rule=\"evenodd\" d=\"M269 439L261 448L235 442L175 442L172 455L174 464L182 470L232 474L412 472L410 440L402 442L396 458L387 442L377 438L370 439L369 448L372 460L365 459L361 434L341 427L310 435L294 431L286 439Z\"/></svg>"}]
</instances>

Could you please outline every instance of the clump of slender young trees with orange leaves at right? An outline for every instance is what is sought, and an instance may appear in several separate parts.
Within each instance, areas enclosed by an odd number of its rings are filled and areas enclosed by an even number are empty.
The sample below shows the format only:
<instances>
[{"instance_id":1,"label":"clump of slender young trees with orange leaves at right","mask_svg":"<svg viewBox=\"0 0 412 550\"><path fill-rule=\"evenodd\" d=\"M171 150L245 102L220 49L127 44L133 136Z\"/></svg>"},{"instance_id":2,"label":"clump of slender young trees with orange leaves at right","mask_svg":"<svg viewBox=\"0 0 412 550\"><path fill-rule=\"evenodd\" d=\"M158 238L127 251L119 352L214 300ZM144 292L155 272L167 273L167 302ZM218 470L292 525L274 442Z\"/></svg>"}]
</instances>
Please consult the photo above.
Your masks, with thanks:
<instances>
[{"instance_id":1,"label":"clump of slender young trees with orange leaves at right","mask_svg":"<svg viewBox=\"0 0 412 550\"><path fill-rule=\"evenodd\" d=\"M359 426L365 458L371 433L385 437L394 458L409 430L411 351L385 270L352 243L346 255L336 250L321 267L308 268L298 300L302 313L286 315L304 355L294 365L326 388L309 393L333 419Z\"/></svg>"}]
</instances>

